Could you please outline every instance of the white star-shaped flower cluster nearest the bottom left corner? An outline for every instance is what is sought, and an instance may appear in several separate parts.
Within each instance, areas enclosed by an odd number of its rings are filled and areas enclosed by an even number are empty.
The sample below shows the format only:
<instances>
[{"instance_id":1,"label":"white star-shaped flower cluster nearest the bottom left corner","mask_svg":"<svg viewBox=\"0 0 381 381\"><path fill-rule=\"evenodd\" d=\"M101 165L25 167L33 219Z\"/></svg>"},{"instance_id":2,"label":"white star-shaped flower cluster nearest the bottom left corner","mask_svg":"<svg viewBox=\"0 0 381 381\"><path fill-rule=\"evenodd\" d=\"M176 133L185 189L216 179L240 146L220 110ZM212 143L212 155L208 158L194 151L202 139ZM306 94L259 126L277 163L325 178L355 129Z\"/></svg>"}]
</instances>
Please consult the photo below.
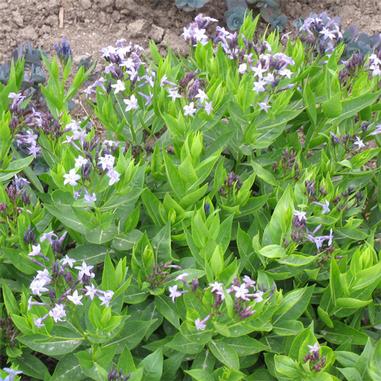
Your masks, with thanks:
<instances>
[{"instance_id":1,"label":"white star-shaped flower cluster nearest the bottom left corner","mask_svg":"<svg viewBox=\"0 0 381 381\"><path fill-rule=\"evenodd\" d=\"M64 234L62 237L65 236ZM62 242L62 237L58 238L54 232L49 232L40 237L40 242L49 241L54 249L57 242ZM49 262L49 258L42 253L40 244L32 245L32 250L28 255L33 259L40 257L45 263ZM66 304L71 302L77 306L82 305L82 299L85 296L90 300L98 297L101 305L109 306L114 293L111 290L100 290L92 283L92 279L95 277L94 266L88 265L85 261L79 263L80 261L70 258L68 255L60 260L55 260L51 269L46 268L39 261L34 260L33 262L43 267L43 270L37 271L37 275L29 286L33 296L29 298L28 310L33 306L45 306L49 309L45 315L34 319L36 327L44 326L44 320L48 317L51 317L56 323L64 321L67 313ZM58 293L60 296L57 295Z\"/></svg>"}]
</instances>

